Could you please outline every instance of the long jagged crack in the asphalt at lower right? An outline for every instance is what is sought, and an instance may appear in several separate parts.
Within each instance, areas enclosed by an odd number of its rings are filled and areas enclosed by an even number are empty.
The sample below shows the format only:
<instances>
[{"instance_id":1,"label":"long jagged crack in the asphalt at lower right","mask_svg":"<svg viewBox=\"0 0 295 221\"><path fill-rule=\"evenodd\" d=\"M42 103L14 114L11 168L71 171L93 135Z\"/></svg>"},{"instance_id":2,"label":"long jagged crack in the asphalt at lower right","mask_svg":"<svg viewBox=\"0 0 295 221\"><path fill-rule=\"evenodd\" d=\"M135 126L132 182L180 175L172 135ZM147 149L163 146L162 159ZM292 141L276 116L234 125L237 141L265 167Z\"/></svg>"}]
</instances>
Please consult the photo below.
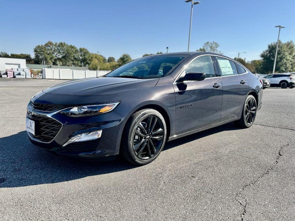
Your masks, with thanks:
<instances>
[{"instance_id":1,"label":"long jagged crack in the asphalt at lower right","mask_svg":"<svg viewBox=\"0 0 295 221\"><path fill-rule=\"evenodd\" d=\"M265 125L262 125L262 126L265 126ZM284 129L284 128L283 128ZM248 186L252 186L252 185L255 185L258 180L260 178L263 178L264 176L266 176L267 174L270 173L270 171L273 169L274 166L276 166L276 164L278 164L278 160L280 159L281 156L283 156L281 154L281 151L284 147L288 147L292 142L294 142L294 140L292 141L289 141L287 142L287 144L281 146L278 150L278 155L276 156L276 159L275 161L273 162L273 164L271 164L270 167L268 167L268 169L266 170L265 173L261 174L259 177L257 177L253 182L251 182L250 184L246 184L242 189L240 189L240 192L236 193L236 196L235 196L235 200L242 206L243 208L243 212L241 213L240 215L240 218L241 220L243 221L244 220L244 217L246 215L246 208L247 208L247 199L245 197L242 196L242 192L248 187ZM242 198L245 202L241 202L242 200L239 200L238 197Z\"/></svg>"}]
</instances>

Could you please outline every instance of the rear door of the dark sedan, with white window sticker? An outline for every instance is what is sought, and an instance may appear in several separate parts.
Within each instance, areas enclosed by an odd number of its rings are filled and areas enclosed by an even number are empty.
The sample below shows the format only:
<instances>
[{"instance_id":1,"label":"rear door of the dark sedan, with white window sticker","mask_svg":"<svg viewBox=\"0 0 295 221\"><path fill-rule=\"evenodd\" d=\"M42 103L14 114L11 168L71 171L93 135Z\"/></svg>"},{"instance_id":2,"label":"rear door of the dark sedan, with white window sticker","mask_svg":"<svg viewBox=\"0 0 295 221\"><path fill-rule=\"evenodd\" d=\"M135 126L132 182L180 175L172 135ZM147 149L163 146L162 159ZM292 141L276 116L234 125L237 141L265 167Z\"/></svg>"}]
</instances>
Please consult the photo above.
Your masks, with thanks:
<instances>
[{"instance_id":1,"label":"rear door of the dark sedan, with white window sticker","mask_svg":"<svg viewBox=\"0 0 295 221\"><path fill-rule=\"evenodd\" d=\"M249 83L246 70L243 68L244 73L242 73L239 67L239 74L236 62L224 57L216 56L215 59L223 89L220 121L226 121L239 115L249 91Z\"/></svg>"}]
</instances>

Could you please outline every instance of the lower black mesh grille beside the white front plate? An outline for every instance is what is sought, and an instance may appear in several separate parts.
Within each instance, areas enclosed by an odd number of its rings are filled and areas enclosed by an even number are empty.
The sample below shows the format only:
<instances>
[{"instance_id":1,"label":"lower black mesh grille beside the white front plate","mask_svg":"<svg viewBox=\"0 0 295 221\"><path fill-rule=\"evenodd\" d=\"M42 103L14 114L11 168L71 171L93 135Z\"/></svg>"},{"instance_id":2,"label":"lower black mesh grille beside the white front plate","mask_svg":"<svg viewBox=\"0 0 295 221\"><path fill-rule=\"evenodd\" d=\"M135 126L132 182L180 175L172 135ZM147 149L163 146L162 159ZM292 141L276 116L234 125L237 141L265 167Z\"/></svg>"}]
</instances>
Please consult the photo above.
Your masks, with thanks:
<instances>
[{"instance_id":1,"label":"lower black mesh grille beside the white front plate","mask_svg":"<svg viewBox=\"0 0 295 221\"><path fill-rule=\"evenodd\" d=\"M27 115L27 117L35 121L35 135L31 135L43 142L52 141L62 127L61 123L46 116Z\"/></svg>"}]
</instances>

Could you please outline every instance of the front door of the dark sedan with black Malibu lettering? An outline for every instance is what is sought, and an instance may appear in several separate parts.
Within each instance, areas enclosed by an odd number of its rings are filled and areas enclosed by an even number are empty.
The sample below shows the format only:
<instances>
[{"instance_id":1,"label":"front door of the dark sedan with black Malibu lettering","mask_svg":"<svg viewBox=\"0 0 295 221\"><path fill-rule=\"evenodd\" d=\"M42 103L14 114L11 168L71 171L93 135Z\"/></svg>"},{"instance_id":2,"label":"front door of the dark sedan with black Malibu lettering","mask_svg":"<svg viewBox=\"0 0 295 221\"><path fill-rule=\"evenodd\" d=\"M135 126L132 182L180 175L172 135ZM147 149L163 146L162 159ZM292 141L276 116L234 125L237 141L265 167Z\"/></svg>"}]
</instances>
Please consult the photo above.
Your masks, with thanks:
<instances>
[{"instance_id":1,"label":"front door of the dark sedan with black Malibu lettering","mask_svg":"<svg viewBox=\"0 0 295 221\"><path fill-rule=\"evenodd\" d=\"M212 57L195 58L186 66L181 76L188 72L203 72L207 77L202 81L173 84L176 97L176 134L219 123L221 117L221 80L216 77Z\"/></svg>"}]
</instances>

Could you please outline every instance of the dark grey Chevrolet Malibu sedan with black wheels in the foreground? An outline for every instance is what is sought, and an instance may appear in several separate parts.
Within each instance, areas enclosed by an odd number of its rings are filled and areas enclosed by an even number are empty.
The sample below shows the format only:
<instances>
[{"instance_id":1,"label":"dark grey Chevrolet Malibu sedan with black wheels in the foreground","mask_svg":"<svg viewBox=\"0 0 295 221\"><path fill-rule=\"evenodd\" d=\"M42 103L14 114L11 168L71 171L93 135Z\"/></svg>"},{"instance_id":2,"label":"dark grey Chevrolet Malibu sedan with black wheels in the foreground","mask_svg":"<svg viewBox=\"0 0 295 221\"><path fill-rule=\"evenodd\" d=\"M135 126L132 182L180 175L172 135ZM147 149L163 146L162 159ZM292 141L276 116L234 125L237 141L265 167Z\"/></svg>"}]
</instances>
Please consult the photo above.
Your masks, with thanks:
<instances>
[{"instance_id":1,"label":"dark grey Chevrolet Malibu sedan with black wheels in the foreground","mask_svg":"<svg viewBox=\"0 0 295 221\"><path fill-rule=\"evenodd\" d=\"M33 144L58 154L121 153L143 165L166 141L232 121L249 128L262 88L258 77L223 55L151 55L40 91L27 106L26 130Z\"/></svg>"}]
</instances>

